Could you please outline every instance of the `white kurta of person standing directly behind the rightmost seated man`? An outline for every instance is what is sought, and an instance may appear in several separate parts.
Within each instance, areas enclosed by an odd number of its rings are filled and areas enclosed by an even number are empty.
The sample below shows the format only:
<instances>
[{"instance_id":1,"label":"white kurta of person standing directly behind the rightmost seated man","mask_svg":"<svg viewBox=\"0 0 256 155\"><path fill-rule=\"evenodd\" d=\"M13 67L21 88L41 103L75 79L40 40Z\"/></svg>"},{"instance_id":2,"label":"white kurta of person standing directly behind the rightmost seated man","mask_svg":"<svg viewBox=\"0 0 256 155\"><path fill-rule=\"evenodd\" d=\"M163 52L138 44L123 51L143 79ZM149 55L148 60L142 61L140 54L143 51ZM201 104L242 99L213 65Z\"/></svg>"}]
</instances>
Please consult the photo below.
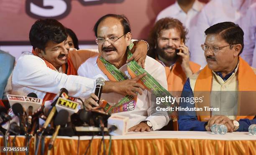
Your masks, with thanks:
<instances>
[{"instance_id":1,"label":"white kurta of person standing directly behind the rightmost seated man","mask_svg":"<svg viewBox=\"0 0 256 155\"><path fill-rule=\"evenodd\" d=\"M248 7L256 0L211 0L198 14L196 24L188 33L187 42L191 52L190 60L205 67L206 60L201 45L205 43L205 30L221 22L234 22L240 24Z\"/></svg>"}]
</instances>

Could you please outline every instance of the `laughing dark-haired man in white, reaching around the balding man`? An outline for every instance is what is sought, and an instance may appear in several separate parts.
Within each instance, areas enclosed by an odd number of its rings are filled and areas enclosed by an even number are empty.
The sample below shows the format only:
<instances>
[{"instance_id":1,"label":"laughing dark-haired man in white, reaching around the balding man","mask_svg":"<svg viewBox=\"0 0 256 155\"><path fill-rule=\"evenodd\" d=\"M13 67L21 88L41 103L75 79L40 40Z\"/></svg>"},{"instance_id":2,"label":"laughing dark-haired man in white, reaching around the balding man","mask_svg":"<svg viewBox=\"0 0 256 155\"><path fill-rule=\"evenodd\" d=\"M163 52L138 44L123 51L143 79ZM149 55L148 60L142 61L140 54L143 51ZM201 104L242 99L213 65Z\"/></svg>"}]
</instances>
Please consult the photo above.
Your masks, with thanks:
<instances>
[{"instance_id":1,"label":"laughing dark-haired man in white, reaching around the balding man","mask_svg":"<svg viewBox=\"0 0 256 155\"><path fill-rule=\"evenodd\" d=\"M12 76L13 94L26 96L34 92L45 101L52 100L62 87L74 97L85 98L94 92L95 80L77 76L77 69L87 58L98 55L98 52L69 49L66 30L54 19L37 20L31 27L29 40L33 46L33 55L22 55L18 59ZM146 55L147 45L141 43L141 49L144 50L135 51L136 60ZM138 53L142 53L142 56ZM108 87L103 92L131 92L137 87L130 83L126 80L125 86L120 87L117 82L106 82Z\"/></svg>"}]
</instances>

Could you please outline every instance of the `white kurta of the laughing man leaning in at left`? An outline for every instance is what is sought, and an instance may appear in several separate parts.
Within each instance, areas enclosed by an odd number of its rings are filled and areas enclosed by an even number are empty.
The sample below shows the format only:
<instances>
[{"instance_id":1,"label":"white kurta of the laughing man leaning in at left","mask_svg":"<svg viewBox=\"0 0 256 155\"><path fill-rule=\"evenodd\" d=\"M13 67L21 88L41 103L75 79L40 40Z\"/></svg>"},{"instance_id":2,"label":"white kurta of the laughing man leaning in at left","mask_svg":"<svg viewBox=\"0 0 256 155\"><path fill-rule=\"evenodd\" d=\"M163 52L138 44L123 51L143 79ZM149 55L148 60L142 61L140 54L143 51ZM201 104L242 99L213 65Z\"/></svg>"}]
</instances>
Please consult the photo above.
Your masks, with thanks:
<instances>
[{"instance_id":1,"label":"white kurta of the laughing man leaning in at left","mask_svg":"<svg viewBox=\"0 0 256 155\"><path fill-rule=\"evenodd\" d=\"M13 95L26 96L34 92L41 99L46 92L58 94L63 87L69 95L86 98L95 91L95 86L95 80L52 70L34 55L20 56L12 76Z\"/></svg>"}]
</instances>

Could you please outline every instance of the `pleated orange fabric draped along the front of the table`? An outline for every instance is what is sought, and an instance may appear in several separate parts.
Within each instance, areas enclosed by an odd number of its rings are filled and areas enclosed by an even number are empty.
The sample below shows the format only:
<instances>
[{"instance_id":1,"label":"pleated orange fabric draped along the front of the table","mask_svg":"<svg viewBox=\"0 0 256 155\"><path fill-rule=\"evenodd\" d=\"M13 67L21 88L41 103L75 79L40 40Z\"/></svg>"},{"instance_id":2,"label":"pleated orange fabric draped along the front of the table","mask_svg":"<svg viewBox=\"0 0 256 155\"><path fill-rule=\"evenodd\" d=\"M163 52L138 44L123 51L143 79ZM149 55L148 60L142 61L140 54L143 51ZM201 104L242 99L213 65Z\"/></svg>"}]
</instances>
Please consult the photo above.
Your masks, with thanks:
<instances>
[{"instance_id":1,"label":"pleated orange fabric draped along the front of the table","mask_svg":"<svg viewBox=\"0 0 256 155\"><path fill-rule=\"evenodd\" d=\"M11 138L12 140L13 138ZM25 146L24 137L17 137L16 146ZM80 140L79 155L84 155L90 140ZM87 155L97 155L101 139L92 140ZM45 139L47 154L50 138ZM137 139L112 140L111 155L255 155L256 140L205 140L205 139ZM3 138L0 138L3 145ZM33 138L29 155L34 154ZM106 154L110 140L105 140ZM56 138L50 155L77 155L78 140ZM103 145L101 145L103 148ZM101 148L100 155L103 155ZM40 148L39 148L40 151ZM10 155L10 153L9 153ZM19 153L25 155L25 153ZM38 153L40 155L40 153Z\"/></svg>"}]
</instances>

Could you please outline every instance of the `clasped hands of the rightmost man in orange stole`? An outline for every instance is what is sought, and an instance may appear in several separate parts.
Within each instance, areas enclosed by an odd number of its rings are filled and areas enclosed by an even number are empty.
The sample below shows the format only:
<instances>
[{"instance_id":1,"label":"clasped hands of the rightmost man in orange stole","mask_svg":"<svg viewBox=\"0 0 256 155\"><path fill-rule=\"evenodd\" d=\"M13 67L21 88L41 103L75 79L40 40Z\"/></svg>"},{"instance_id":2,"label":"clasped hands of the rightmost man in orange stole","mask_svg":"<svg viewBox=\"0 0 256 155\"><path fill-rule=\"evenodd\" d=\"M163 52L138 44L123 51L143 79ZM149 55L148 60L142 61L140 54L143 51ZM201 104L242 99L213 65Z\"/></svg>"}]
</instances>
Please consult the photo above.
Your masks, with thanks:
<instances>
[{"instance_id":1,"label":"clasped hands of the rightmost man in orange stole","mask_svg":"<svg viewBox=\"0 0 256 155\"><path fill-rule=\"evenodd\" d=\"M232 120L230 120L227 116L224 115L214 115L210 118L205 118L206 121L208 121L207 125L205 126L205 129L207 131L211 130L212 125L214 124L224 124L228 127L228 132L233 132L234 125L232 123Z\"/></svg>"}]
</instances>

